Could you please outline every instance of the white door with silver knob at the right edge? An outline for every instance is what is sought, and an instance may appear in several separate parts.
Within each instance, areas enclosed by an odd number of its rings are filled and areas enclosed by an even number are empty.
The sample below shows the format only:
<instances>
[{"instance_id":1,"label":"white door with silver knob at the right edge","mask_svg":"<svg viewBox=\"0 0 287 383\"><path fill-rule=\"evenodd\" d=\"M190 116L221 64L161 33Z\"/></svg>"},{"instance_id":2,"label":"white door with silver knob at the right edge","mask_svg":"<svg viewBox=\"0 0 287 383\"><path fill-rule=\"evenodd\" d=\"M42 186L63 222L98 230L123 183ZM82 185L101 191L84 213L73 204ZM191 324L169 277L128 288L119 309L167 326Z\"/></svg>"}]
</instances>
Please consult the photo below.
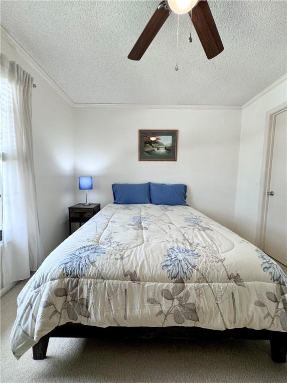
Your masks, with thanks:
<instances>
[{"instance_id":1,"label":"white door with silver knob at the right edge","mask_svg":"<svg viewBox=\"0 0 287 383\"><path fill-rule=\"evenodd\" d=\"M287 111L284 111L275 120L264 251L287 266L286 146Z\"/></svg>"}]
</instances>

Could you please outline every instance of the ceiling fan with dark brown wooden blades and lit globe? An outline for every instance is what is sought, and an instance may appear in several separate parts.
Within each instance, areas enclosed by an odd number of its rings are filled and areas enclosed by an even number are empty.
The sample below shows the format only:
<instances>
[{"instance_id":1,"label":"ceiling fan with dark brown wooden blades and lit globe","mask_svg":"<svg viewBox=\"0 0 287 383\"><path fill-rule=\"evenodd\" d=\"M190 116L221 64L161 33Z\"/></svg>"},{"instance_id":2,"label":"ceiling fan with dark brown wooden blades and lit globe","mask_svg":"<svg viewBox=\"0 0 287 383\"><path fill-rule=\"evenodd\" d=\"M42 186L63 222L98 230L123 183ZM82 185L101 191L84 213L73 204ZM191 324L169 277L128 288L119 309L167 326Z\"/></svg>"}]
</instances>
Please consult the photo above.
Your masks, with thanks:
<instances>
[{"instance_id":1,"label":"ceiling fan with dark brown wooden blades and lit globe","mask_svg":"<svg viewBox=\"0 0 287 383\"><path fill-rule=\"evenodd\" d=\"M177 14L189 14L208 59L223 51L224 47L207 0L163 0L158 4L143 29L143 33L128 56L129 59L140 60L142 58L171 11Z\"/></svg>"}]
</instances>

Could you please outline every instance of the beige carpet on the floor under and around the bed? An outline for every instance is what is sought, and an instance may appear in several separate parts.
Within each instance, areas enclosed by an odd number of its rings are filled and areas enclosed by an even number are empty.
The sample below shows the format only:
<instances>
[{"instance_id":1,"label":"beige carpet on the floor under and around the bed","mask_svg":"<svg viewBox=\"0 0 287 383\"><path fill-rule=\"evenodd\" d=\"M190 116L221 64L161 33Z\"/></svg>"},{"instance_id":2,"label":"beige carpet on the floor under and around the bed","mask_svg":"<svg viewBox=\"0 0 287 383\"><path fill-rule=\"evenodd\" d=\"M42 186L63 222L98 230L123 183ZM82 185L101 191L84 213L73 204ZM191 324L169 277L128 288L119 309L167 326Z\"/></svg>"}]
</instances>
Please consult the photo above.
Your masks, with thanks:
<instances>
[{"instance_id":1,"label":"beige carpet on the floor under and around the bed","mask_svg":"<svg viewBox=\"0 0 287 383\"><path fill-rule=\"evenodd\" d=\"M16 360L9 347L16 296L1 298L1 383L283 383L287 365L270 358L265 341L96 341L51 339L47 358L29 350Z\"/></svg>"}]
</instances>

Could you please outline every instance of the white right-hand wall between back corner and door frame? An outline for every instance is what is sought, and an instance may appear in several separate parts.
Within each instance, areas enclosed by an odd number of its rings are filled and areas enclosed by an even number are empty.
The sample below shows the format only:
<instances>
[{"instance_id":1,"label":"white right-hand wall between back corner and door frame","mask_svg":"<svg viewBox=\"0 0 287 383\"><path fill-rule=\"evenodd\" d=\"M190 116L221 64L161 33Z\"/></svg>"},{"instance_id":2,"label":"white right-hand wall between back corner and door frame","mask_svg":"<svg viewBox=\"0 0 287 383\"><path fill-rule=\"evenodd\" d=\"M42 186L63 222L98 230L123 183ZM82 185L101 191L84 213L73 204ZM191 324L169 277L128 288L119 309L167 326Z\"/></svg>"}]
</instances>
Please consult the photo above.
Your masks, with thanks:
<instances>
[{"instance_id":1,"label":"white right-hand wall between back corner and door frame","mask_svg":"<svg viewBox=\"0 0 287 383\"><path fill-rule=\"evenodd\" d=\"M266 115L286 100L285 79L242 110L235 231L253 243L256 242L259 213Z\"/></svg>"}]
</instances>

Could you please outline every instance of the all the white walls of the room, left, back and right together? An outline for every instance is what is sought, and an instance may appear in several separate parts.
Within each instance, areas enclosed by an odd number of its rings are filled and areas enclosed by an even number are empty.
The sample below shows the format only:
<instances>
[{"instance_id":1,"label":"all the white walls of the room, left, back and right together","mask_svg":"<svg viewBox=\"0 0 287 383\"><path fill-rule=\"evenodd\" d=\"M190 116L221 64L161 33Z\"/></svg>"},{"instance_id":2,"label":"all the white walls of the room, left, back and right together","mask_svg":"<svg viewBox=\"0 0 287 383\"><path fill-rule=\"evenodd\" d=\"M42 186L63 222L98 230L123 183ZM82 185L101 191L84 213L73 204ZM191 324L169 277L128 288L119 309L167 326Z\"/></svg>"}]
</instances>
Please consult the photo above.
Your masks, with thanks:
<instances>
[{"instance_id":1,"label":"all the white walls of the room, left, back and right together","mask_svg":"<svg viewBox=\"0 0 287 383\"><path fill-rule=\"evenodd\" d=\"M84 200L77 177L85 175L94 176L89 199L102 206L113 201L113 183L185 183L190 205L255 242L266 113L286 101L286 81L243 111L75 108L3 34L1 52L37 84L32 126L45 254L67 236L67 208ZM177 162L139 162L139 129L178 129Z\"/></svg>"}]
</instances>

